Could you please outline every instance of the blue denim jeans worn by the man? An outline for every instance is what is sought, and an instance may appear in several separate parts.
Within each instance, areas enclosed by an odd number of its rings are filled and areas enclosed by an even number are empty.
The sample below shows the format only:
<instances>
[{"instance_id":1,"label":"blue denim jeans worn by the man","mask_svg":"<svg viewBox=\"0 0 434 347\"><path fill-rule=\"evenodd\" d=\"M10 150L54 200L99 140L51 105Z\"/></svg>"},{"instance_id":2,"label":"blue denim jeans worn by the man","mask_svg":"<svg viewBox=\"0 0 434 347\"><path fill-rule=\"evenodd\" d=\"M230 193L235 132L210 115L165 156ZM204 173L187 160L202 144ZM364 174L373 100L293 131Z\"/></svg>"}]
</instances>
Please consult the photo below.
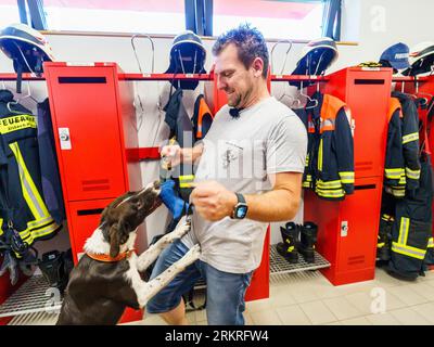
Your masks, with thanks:
<instances>
[{"instance_id":1,"label":"blue denim jeans worn by the man","mask_svg":"<svg viewBox=\"0 0 434 347\"><path fill-rule=\"evenodd\" d=\"M182 258L189 248L179 240L162 252L151 280ZM206 282L206 317L209 325L244 325L244 295L253 271L248 273L229 273L219 271L210 265L196 260L178 273L176 278L150 301L149 313L167 312L176 308L182 294L190 291L201 278Z\"/></svg>"}]
</instances>

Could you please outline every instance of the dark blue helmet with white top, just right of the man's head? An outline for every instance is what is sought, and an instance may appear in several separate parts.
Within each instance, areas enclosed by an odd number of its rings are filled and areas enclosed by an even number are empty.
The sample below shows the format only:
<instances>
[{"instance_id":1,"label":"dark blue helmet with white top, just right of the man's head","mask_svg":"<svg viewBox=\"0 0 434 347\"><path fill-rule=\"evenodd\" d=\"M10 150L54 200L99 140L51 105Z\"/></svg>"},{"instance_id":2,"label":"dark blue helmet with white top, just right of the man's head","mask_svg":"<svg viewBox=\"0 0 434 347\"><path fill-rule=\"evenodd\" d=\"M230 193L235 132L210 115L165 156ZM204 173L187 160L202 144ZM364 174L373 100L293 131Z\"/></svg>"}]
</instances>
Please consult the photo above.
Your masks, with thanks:
<instances>
[{"instance_id":1,"label":"dark blue helmet with white top, just right of the man's head","mask_svg":"<svg viewBox=\"0 0 434 347\"><path fill-rule=\"evenodd\" d=\"M329 37L308 42L302 50L302 57L297 62L293 75L322 75L339 56L336 42ZM299 87L299 82L290 82L291 86ZM305 87L308 83L306 82Z\"/></svg>"}]
</instances>

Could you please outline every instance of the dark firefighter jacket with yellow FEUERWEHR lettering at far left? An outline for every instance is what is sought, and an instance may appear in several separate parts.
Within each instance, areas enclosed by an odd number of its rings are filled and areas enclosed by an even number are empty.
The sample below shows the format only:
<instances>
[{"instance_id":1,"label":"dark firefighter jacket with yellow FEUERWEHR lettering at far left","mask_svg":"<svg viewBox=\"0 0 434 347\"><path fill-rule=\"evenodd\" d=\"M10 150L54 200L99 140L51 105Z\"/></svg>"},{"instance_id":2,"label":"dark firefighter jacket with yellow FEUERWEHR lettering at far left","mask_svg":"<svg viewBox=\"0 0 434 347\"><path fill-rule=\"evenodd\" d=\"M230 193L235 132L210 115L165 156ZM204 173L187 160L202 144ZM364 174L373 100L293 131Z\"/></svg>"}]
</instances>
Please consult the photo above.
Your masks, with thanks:
<instances>
[{"instance_id":1,"label":"dark firefighter jacket with yellow FEUERWEHR lettering at far left","mask_svg":"<svg viewBox=\"0 0 434 347\"><path fill-rule=\"evenodd\" d=\"M3 234L20 233L31 245L60 229L42 198L36 117L0 91L0 218Z\"/></svg>"}]
</instances>

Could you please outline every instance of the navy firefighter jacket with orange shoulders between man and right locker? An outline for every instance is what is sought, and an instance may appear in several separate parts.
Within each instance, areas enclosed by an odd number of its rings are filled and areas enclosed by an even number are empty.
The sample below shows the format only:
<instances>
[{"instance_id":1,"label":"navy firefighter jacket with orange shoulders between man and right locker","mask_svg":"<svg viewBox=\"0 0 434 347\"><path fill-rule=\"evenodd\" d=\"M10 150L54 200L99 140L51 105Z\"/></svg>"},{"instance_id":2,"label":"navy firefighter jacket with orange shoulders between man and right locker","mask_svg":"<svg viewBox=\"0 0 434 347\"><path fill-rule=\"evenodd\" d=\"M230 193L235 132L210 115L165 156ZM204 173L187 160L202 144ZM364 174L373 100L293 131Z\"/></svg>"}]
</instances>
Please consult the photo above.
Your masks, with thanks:
<instances>
[{"instance_id":1,"label":"navy firefighter jacket with orange shoulders between man and right locker","mask_svg":"<svg viewBox=\"0 0 434 347\"><path fill-rule=\"evenodd\" d=\"M354 192L355 180L349 111L344 102L329 94L316 93L312 99L318 104L308 112L311 143L306 181L311 175L315 192L321 198L344 200Z\"/></svg>"}]
</instances>

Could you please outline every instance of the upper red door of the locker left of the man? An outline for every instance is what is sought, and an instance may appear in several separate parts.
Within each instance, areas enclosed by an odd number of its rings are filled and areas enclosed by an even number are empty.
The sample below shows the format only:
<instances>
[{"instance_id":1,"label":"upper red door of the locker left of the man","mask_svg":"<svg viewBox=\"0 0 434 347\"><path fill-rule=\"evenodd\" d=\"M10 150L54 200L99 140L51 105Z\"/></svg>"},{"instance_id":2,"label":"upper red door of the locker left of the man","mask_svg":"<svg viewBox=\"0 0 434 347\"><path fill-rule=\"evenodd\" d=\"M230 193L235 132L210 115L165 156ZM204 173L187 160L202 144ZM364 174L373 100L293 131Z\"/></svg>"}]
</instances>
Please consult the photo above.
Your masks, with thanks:
<instances>
[{"instance_id":1,"label":"upper red door of the locker left of the man","mask_svg":"<svg viewBox=\"0 0 434 347\"><path fill-rule=\"evenodd\" d=\"M117 196L126 190L114 73L110 66L49 68L68 201Z\"/></svg>"}]
</instances>

